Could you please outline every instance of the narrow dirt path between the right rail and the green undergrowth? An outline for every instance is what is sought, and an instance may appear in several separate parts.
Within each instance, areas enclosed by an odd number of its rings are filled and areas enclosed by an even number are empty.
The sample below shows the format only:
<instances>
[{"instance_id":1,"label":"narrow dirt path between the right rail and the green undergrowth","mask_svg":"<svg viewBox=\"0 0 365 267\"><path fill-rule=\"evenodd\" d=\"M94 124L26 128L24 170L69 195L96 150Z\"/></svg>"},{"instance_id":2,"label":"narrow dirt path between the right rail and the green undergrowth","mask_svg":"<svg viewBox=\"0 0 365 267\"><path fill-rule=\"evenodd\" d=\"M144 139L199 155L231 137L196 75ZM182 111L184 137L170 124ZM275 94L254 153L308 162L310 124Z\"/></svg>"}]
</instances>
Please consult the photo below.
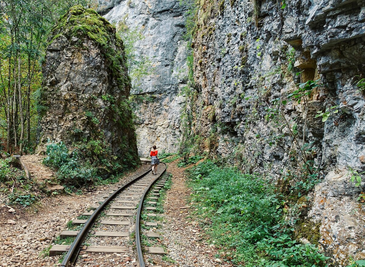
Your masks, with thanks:
<instances>
[{"instance_id":1,"label":"narrow dirt path between the right rail and the green undergrowth","mask_svg":"<svg viewBox=\"0 0 365 267\"><path fill-rule=\"evenodd\" d=\"M160 232L168 255L167 258L154 256L153 264L162 267L231 267L229 263L216 259L218 252L214 245L205 241L204 229L200 228L199 220L191 214L192 208L188 203L191 191L185 184L185 168L178 168L176 163L168 164L173 184L167 191L165 213L162 214L165 223Z\"/></svg>"}]
</instances>

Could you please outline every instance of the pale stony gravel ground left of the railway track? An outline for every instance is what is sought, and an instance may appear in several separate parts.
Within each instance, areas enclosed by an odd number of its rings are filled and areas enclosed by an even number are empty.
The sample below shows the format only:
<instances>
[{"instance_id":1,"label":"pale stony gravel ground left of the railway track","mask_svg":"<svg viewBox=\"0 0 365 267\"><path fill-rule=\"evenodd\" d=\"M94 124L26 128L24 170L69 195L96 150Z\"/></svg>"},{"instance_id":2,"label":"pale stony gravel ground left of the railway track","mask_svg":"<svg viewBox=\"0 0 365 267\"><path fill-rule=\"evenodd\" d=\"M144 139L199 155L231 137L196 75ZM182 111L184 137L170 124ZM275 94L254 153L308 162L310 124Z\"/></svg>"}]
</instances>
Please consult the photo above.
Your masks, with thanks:
<instances>
[{"instance_id":1,"label":"pale stony gravel ground left of the railway track","mask_svg":"<svg viewBox=\"0 0 365 267\"><path fill-rule=\"evenodd\" d=\"M143 165L127 174L123 181L148 168L149 165ZM44 257L41 255L42 251L49 248L59 233L67 229L69 220L74 220L87 211L90 205L95 204L95 201L100 200L101 196L123 183L100 186L81 196L43 198L41 206L30 209L15 208L15 213L9 213L9 207L0 203L0 266L57 266L61 256ZM14 222L8 224L9 219ZM124 243L122 239L113 241L115 244ZM130 266L128 264L134 260L125 255L97 254L94 258L98 259L99 266ZM85 263L93 261L91 257L84 257L83 260Z\"/></svg>"}]
</instances>

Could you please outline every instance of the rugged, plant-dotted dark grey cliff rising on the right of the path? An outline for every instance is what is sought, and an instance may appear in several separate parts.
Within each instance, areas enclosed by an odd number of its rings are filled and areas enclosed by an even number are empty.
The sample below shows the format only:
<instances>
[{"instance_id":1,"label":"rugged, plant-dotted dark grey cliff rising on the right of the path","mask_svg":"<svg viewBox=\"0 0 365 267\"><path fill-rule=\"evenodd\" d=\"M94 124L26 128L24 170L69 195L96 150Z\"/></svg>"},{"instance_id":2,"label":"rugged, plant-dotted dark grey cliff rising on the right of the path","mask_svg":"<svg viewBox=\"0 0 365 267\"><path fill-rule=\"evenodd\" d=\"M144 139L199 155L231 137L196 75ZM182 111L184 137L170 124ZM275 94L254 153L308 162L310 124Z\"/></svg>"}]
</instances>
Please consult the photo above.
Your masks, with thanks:
<instances>
[{"instance_id":1,"label":"rugged, plant-dotted dark grey cliff rising on the right of the path","mask_svg":"<svg viewBox=\"0 0 365 267\"><path fill-rule=\"evenodd\" d=\"M320 244L335 266L365 256L364 206L357 202L364 187L347 175L349 167L365 170L365 101L356 86L365 70L364 12L360 0L293 0L284 8L273 1L200 1L192 44L200 86L189 111L191 136L200 136L195 147L276 180L296 165L291 135L302 146L305 129L304 143L313 147L308 159L325 177L308 217L322 223ZM308 112L303 101L288 100L296 84L316 79L321 86L308 96ZM288 100L280 108L289 127L270 116L276 98ZM325 122L315 118L327 108L339 112Z\"/></svg>"}]
</instances>

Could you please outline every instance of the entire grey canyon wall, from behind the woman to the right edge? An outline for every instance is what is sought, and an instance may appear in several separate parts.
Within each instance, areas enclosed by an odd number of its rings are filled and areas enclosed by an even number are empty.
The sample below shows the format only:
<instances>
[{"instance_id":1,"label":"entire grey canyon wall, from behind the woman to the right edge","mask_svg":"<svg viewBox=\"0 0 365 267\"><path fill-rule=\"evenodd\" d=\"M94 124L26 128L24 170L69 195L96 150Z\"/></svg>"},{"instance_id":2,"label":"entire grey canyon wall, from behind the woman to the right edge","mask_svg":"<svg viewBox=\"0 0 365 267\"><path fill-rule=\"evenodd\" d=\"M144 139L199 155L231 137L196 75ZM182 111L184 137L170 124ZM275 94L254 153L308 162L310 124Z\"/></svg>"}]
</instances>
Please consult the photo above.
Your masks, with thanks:
<instances>
[{"instance_id":1,"label":"entire grey canyon wall, from behind the woman to the right edge","mask_svg":"<svg viewBox=\"0 0 365 267\"><path fill-rule=\"evenodd\" d=\"M184 26L188 9L195 28ZM365 257L357 201L364 182L349 179L365 170L365 102L356 86L364 78L364 1L100 0L99 12L117 28L140 30L135 48L154 66L133 92L153 98L135 110L139 155L153 143L166 152L182 144L283 191L315 183L301 215L319 225L309 231L319 231L333 266ZM195 84L187 90L191 53ZM307 81L316 81L310 93L288 98ZM293 171L305 161L318 173L311 181Z\"/></svg>"}]
</instances>

